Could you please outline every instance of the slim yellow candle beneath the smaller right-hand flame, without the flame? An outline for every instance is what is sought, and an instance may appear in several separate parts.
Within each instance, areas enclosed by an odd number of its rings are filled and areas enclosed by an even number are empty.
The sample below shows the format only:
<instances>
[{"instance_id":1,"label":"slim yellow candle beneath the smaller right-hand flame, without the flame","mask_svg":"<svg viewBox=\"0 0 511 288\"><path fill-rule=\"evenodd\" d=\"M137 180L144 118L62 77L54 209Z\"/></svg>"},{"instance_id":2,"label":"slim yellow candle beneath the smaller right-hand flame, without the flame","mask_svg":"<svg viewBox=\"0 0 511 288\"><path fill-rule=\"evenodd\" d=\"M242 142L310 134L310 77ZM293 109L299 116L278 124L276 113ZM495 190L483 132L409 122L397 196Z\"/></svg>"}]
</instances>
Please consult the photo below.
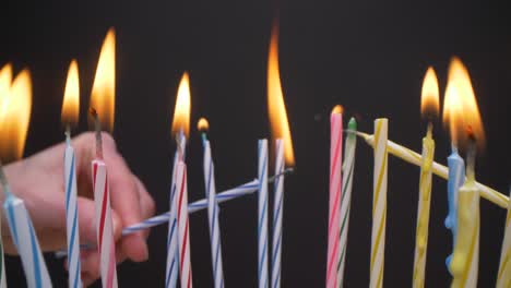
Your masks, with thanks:
<instances>
[{"instance_id":1,"label":"slim yellow candle beneath the smaller right-hand flame, without the flame","mask_svg":"<svg viewBox=\"0 0 511 288\"><path fill-rule=\"evenodd\" d=\"M435 155L435 141L431 137L431 124L423 139L423 165L420 166L419 193L417 206L417 228L415 236L415 257L413 287L424 287L426 255L428 251L429 208L431 202L431 166Z\"/></svg>"}]
</instances>

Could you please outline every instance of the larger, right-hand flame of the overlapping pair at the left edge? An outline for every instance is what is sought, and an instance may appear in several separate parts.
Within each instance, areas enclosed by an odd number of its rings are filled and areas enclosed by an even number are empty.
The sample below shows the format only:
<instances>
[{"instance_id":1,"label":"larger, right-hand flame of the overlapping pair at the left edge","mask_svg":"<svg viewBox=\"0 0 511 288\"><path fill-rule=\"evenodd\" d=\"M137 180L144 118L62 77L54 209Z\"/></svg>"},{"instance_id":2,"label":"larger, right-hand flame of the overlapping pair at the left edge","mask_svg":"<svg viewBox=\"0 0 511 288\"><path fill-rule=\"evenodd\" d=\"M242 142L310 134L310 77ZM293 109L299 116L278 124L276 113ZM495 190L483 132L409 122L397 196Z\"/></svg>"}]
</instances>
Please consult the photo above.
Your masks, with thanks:
<instances>
[{"instance_id":1,"label":"larger, right-hand flame of the overlapping pair at the left edge","mask_svg":"<svg viewBox=\"0 0 511 288\"><path fill-rule=\"evenodd\" d=\"M28 132L32 111L32 81L28 70L17 74L9 93L2 98L4 109L0 113L0 158L11 161L23 156Z\"/></svg>"}]
</instances>

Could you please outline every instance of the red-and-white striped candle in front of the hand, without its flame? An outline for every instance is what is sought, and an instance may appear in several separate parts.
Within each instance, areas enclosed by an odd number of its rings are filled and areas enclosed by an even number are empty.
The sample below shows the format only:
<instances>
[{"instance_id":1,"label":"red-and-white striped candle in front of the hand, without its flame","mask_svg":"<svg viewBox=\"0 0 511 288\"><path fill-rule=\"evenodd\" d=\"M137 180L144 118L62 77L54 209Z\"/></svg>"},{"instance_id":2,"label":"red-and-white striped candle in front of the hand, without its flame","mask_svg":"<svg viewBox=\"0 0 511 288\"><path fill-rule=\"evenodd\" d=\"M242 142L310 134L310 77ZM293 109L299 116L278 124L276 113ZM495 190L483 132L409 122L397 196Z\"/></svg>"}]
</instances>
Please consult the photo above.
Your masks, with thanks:
<instances>
[{"instance_id":1,"label":"red-and-white striped candle in front of the hand, without its flame","mask_svg":"<svg viewBox=\"0 0 511 288\"><path fill-rule=\"evenodd\" d=\"M117 288L116 244L114 242L110 188L106 164L100 159L94 159L92 172L102 284L104 288Z\"/></svg>"}]
</instances>

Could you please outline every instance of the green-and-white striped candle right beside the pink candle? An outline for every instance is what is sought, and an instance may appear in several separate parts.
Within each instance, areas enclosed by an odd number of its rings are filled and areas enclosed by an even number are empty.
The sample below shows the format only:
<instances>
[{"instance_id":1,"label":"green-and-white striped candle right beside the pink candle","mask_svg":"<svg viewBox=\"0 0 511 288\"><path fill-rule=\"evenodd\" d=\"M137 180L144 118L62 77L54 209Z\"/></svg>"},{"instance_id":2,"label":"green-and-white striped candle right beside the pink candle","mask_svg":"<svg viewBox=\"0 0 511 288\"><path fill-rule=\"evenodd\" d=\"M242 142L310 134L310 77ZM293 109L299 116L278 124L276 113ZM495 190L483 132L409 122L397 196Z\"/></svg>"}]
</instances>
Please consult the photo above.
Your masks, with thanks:
<instances>
[{"instance_id":1,"label":"green-and-white striped candle right beside the pink candle","mask_svg":"<svg viewBox=\"0 0 511 288\"><path fill-rule=\"evenodd\" d=\"M341 197L341 231L338 235L341 259L337 265L337 287L342 287L344 284L347 232L349 226L349 205L352 202L353 171L355 169L355 148L357 146L357 136L355 135L355 131L357 131L357 122L355 121L355 118L352 118L348 122L348 134L346 136L346 144L344 146L343 191Z\"/></svg>"}]
</instances>

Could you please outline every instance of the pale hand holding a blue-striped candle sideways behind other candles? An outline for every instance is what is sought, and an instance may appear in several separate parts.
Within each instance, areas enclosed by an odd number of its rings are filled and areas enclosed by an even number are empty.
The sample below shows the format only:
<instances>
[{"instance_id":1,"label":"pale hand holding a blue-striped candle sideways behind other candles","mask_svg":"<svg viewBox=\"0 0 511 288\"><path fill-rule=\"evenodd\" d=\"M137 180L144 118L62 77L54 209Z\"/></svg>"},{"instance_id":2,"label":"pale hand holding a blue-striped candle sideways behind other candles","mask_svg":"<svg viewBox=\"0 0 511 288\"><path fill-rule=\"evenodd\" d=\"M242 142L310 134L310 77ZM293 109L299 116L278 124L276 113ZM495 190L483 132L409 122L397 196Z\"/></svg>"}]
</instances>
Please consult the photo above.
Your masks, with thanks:
<instances>
[{"instance_id":1,"label":"pale hand holding a blue-striped candle sideways behind other candles","mask_svg":"<svg viewBox=\"0 0 511 288\"><path fill-rule=\"evenodd\" d=\"M95 157L93 133L83 133L72 140L76 158L78 208L80 242L96 244L95 211L92 189L91 160ZM51 146L23 160L4 166L11 191L24 200L34 221L43 251L66 250L66 206L63 183L64 144ZM108 166L114 233L117 262L143 262L148 257L148 231L121 237L122 227L154 215L154 201L144 184L127 166L117 152L114 139L103 134L104 160ZM2 189L0 188L0 191ZM4 194L0 193L3 203ZM2 240L7 254L16 254L2 209ZM96 250L81 252L82 280L85 285L99 278L99 254ZM66 262L64 262L66 263Z\"/></svg>"}]
</instances>

